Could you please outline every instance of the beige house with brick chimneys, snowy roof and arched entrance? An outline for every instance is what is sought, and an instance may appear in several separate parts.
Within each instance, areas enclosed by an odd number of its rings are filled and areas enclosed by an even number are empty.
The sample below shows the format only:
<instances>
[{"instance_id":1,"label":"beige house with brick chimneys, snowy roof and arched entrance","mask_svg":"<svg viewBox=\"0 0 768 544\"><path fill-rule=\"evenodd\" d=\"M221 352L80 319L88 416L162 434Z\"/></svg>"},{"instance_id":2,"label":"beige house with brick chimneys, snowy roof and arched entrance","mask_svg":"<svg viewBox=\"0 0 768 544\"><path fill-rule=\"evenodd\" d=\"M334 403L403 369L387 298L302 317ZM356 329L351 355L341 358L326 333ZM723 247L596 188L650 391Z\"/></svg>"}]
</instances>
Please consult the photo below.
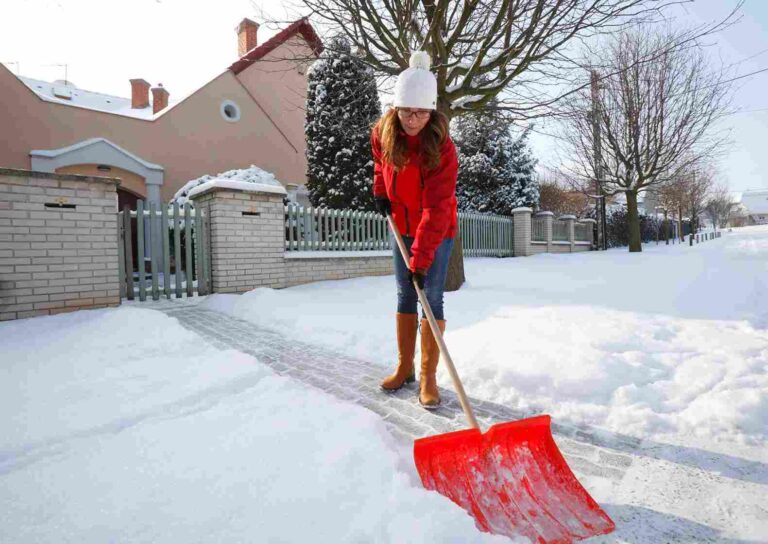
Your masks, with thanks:
<instances>
[{"instance_id":1,"label":"beige house with brick chimneys, snowy roof and arched entrance","mask_svg":"<svg viewBox=\"0 0 768 544\"><path fill-rule=\"evenodd\" d=\"M190 179L251 164L295 195L306 171L305 74L322 44L307 19L263 44L258 29L243 19L238 60L177 101L140 78L121 98L0 65L0 167L118 177L121 208L167 202Z\"/></svg>"}]
</instances>

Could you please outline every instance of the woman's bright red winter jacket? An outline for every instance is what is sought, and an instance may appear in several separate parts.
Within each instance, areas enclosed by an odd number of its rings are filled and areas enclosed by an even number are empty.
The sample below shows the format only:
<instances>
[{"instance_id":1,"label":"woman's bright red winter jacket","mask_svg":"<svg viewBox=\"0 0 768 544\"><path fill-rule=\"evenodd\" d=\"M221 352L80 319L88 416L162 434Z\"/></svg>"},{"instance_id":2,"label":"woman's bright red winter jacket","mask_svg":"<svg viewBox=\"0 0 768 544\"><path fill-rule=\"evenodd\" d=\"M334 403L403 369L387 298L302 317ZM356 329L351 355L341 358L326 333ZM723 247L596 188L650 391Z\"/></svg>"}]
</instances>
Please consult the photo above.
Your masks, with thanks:
<instances>
[{"instance_id":1,"label":"woman's bright red winter jacket","mask_svg":"<svg viewBox=\"0 0 768 544\"><path fill-rule=\"evenodd\" d=\"M392 218L400 234L415 238L411 246L411 270L428 270L437 247L457 232L456 176L459 163L450 136L441 150L440 164L432 170L421 166L419 136L403 133L408 143L408 162L399 172L382 159L377 130L371 132L373 195L388 198Z\"/></svg>"}]
</instances>

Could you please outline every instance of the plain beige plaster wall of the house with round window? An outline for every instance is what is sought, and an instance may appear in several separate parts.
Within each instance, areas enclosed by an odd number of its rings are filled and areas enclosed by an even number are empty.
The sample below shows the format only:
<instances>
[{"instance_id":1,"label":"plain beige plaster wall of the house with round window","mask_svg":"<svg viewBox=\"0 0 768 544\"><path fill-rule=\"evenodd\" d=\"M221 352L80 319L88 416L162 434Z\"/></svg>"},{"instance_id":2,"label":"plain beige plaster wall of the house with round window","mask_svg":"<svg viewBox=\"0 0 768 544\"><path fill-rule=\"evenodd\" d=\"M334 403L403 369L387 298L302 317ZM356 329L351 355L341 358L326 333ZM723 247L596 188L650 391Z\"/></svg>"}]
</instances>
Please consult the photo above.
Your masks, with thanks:
<instances>
[{"instance_id":1,"label":"plain beige plaster wall of the house with round window","mask_svg":"<svg viewBox=\"0 0 768 544\"><path fill-rule=\"evenodd\" d=\"M270 56L286 57L291 47L283 44ZM251 164L286 185L304 183L304 114L298 106L306 78L283 64L262 69L254 63L239 76L226 70L151 121L46 102L0 65L0 166L29 169L31 150L105 138L164 168L163 200L190 179ZM238 122L222 117L224 100L239 106Z\"/></svg>"}]
</instances>

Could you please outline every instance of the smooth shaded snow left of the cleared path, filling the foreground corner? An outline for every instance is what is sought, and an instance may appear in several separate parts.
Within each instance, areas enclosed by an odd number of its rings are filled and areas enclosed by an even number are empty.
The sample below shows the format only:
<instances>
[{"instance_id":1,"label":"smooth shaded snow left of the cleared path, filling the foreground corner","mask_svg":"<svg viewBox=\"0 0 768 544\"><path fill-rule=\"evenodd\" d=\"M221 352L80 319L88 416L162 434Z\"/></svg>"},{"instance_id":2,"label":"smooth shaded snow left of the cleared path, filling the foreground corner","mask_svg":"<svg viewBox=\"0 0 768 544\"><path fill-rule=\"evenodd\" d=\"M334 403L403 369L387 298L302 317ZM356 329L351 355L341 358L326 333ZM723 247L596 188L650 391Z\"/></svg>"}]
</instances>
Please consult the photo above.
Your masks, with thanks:
<instances>
[{"instance_id":1,"label":"smooth shaded snow left of the cleared path, filling the foreground corner","mask_svg":"<svg viewBox=\"0 0 768 544\"><path fill-rule=\"evenodd\" d=\"M505 542L371 412L152 310L0 324L0 542Z\"/></svg>"}]
</instances>

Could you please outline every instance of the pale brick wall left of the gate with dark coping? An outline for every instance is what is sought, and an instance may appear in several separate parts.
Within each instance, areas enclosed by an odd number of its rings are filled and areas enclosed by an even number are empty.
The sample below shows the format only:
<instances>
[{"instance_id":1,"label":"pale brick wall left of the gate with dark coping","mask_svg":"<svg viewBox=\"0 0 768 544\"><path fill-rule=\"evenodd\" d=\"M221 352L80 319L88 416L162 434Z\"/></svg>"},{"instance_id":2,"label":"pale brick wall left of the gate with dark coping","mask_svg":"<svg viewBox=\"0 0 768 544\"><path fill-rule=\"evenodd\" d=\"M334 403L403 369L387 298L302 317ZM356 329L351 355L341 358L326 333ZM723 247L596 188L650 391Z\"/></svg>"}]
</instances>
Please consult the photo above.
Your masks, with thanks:
<instances>
[{"instance_id":1,"label":"pale brick wall left of the gate with dark coping","mask_svg":"<svg viewBox=\"0 0 768 544\"><path fill-rule=\"evenodd\" d=\"M0 168L0 320L120 304L118 184Z\"/></svg>"}]
</instances>

